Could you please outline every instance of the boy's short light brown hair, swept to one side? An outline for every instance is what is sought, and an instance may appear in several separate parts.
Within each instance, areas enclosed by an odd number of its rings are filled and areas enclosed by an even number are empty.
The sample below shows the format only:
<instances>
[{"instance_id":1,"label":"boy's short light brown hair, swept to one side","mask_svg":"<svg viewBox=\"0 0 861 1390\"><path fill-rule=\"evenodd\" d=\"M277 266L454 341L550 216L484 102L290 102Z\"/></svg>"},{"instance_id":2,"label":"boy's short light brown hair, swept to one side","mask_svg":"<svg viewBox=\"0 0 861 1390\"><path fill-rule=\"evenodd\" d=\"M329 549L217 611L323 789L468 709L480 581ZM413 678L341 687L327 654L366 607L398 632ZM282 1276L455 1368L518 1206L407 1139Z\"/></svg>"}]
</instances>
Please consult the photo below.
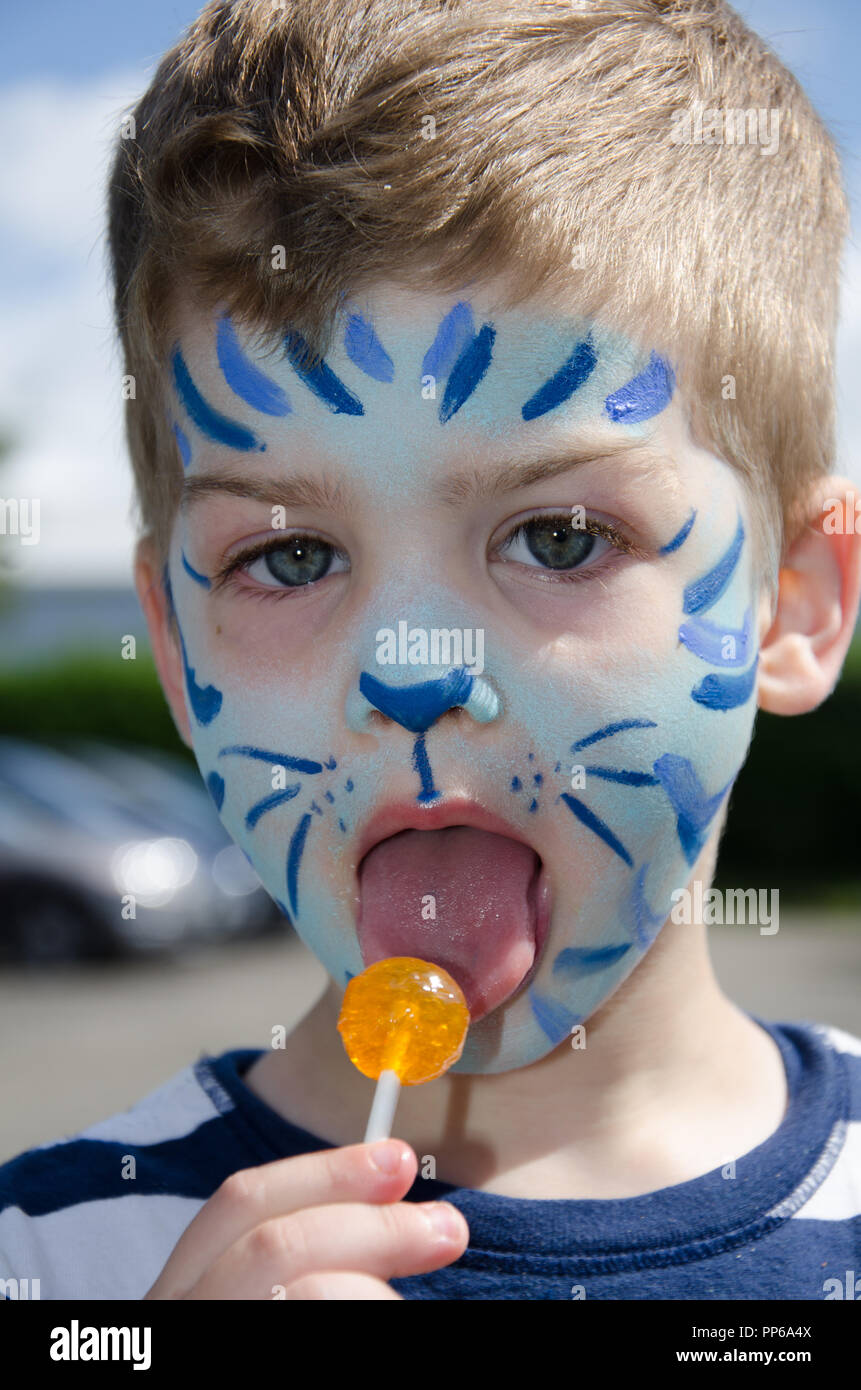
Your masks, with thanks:
<instances>
[{"instance_id":1,"label":"boy's short light brown hair, swept to one side","mask_svg":"<svg viewBox=\"0 0 861 1390\"><path fill-rule=\"evenodd\" d=\"M754 113L778 113L775 149L744 139ZM178 296L321 356L356 288L505 268L506 304L565 282L577 316L670 357L773 580L832 466L847 203L801 86L723 0L211 0L124 136L110 256L161 556Z\"/></svg>"}]
</instances>

